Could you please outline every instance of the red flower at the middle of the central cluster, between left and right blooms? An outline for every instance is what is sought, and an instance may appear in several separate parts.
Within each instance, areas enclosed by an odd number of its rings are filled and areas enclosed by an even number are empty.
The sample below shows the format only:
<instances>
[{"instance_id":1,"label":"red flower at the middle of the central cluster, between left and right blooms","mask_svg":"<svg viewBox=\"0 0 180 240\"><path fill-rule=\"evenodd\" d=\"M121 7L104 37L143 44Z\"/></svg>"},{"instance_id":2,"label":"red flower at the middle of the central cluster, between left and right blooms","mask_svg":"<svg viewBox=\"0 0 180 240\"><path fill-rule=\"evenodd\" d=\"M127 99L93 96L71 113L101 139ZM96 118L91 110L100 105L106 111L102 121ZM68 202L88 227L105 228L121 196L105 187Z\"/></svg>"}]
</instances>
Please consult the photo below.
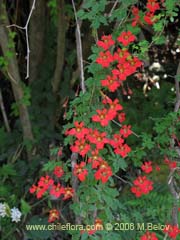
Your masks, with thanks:
<instances>
[{"instance_id":1,"label":"red flower at the middle of the central cluster, between left and right blooms","mask_svg":"<svg viewBox=\"0 0 180 240\"><path fill-rule=\"evenodd\" d=\"M89 135L87 136L87 139L90 141L90 143L96 144L97 149L103 149L104 144L108 143L106 133L105 132L100 133L96 129L90 131Z\"/></svg>"}]
</instances>

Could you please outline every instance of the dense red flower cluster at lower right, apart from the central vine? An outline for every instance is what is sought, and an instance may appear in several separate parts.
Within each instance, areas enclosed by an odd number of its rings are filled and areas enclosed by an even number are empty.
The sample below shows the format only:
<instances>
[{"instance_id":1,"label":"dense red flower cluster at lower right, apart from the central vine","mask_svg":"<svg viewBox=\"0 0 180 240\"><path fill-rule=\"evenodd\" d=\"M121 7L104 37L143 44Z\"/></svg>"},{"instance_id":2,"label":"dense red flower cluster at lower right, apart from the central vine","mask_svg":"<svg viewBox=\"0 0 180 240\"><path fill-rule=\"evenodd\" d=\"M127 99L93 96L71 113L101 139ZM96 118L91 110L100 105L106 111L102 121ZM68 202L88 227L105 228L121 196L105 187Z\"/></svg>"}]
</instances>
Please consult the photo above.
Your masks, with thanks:
<instances>
[{"instance_id":1,"label":"dense red flower cluster at lower right, apart from the central vine","mask_svg":"<svg viewBox=\"0 0 180 240\"><path fill-rule=\"evenodd\" d=\"M131 187L131 192L136 197L141 197L143 194L148 194L153 189L153 182L148 180L146 176L139 176L133 181L134 186Z\"/></svg>"}]
</instances>

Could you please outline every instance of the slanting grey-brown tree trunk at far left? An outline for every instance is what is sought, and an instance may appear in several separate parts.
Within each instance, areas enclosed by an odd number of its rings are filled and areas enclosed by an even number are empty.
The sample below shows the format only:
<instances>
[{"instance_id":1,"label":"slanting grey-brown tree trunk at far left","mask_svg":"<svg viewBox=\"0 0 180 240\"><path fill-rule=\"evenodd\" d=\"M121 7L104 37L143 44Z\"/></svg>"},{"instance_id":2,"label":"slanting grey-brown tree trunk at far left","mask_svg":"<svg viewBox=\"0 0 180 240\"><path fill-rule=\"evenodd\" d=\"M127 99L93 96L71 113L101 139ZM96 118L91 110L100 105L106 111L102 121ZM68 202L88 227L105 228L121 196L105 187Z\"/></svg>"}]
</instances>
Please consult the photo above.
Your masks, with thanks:
<instances>
[{"instance_id":1,"label":"slanting grey-brown tree trunk at far left","mask_svg":"<svg viewBox=\"0 0 180 240\"><path fill-rule=\"evenodd\" d=\"M28 113L27 106L23 104L24 91L21 84L21 78L18 68L18 62L16 58L15 48L11 46L11 49L8 47L9 43L9 33L10 28L7 28L9 25L8 15L6 12L5 4L3 1L0 2L0 46L2 48L3 55L6 59L6 54L8 51L11 52L12 56L8 58L7 74L11 82L13 94L19 108L19 116L23 130L23 138L25 141L33 140L32 127L30 122L30 117ZM27 150L28 156L30 158L30 151Z\"/></svg>"}]
</instances>

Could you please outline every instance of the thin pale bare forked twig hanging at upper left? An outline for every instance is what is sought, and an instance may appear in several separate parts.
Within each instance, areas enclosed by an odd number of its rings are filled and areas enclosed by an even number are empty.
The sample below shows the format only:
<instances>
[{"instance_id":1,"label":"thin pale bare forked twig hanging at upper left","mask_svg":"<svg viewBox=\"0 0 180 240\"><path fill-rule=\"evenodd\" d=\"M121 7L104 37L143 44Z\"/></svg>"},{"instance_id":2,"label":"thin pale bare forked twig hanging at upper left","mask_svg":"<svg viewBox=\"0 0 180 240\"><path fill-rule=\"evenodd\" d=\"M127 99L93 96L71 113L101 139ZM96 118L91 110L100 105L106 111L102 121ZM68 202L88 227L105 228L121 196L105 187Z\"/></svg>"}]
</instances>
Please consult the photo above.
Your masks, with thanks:
<instances>
[{"instance_id":1,"label":"thin pale bare forked twig hanging at upper left","mask_svg":"<svg viewBox=\"0 0 180 240\"><path fill-rule=\"evenodd\" d=\"M28 16L28 19L26 21L26 24L24 27L21 27L19 25L16 25L16 24L11 24L7 27L16 27L16 28L19 28L19 29L22 29L22 30L25 30L25 35L26 35L26 79L29 78L29 54L30 54L30 48L29 48L29 36L28 36L28 26L29 26L29 22L30 22L30 19L31 19L31 16L32 16L32 13L35 9L35 4L36 4L36 0L33 1L32 3L32 7L31 7L31 10L30 10L30 13L29 13L29 16Z\"/></svg>"}]
</instances>

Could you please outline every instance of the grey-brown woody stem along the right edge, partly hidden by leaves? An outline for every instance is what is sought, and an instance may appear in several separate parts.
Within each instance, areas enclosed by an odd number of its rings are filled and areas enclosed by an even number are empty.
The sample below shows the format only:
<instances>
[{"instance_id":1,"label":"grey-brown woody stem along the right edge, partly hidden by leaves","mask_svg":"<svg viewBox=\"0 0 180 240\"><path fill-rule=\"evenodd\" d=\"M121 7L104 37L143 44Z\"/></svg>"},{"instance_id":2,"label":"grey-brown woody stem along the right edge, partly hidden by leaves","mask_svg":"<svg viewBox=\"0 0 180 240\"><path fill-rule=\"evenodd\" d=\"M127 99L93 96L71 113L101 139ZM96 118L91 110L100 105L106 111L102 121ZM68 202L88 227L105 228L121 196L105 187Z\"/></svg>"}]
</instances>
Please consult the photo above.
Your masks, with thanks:
<instances>
[{"instance_id":1,"label":"grey-brown woody stem along the right edge, partly hidden by leaves","mask_svg":"<svg viewBox=\"0 0 180 240\"><path fill-rule=\"evenodd\" d=\"M174 106L174 112L178 112L180 108L180 87L179 87L179 76L180 76L180 62L178 64L176 76L175 76L175 89L176 89L176 103ZM171 140L171 148L174 148L174 140ZM175 189L174 183L174 170L172 169L168 177L168 185L170 192L174 199L174 204L172 207L172 224L178 226L178 199L179 193Z\"/></svg>"}]
</instances>

